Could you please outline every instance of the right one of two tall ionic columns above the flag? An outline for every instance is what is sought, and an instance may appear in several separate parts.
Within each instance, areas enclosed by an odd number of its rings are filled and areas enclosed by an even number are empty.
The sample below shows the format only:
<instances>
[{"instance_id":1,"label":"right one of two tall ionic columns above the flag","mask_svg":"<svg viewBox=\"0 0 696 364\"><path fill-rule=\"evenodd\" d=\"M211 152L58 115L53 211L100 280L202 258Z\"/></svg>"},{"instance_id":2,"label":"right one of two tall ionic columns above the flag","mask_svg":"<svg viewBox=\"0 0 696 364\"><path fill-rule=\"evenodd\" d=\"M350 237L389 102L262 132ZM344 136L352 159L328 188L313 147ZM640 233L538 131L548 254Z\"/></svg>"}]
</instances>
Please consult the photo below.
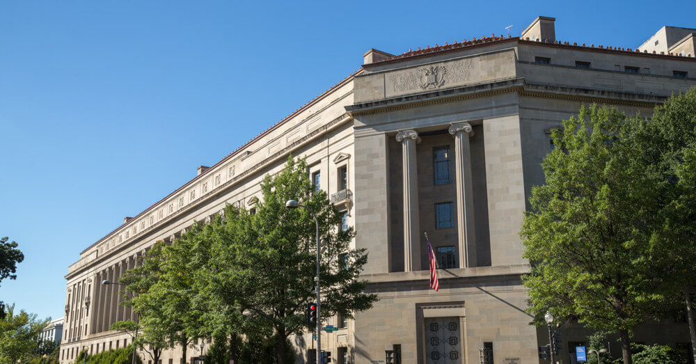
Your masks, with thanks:
<instances>
[{"instance_id":1,"label":"right one of two tall ionic columns above the flag","mask_svg":"<svg viewBox=\"0 0 696 364\"><path fill-rule=\"evenodd\" d=\"M459 267L476 267L476 231L474 226L474 196L471 182L471 148L474 135L468 122L450 126L454 136L454 171L457 177L457 235L459 237Z\"/></svg>"}]
</instances>

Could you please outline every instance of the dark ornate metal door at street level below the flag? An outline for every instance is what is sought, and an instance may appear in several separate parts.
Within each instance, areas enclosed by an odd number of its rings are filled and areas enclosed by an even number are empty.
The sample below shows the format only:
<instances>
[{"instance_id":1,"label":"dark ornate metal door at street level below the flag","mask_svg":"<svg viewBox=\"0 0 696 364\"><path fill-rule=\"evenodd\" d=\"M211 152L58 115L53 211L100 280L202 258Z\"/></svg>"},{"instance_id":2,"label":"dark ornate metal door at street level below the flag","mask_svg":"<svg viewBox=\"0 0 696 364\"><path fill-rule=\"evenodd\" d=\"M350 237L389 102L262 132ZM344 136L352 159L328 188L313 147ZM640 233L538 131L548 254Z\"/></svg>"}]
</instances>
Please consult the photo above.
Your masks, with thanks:
<instances>
[{"instance_id":1,"label":"dark ornate metal door at street level below the flag","mask_svg":"<svg viewBox=\"0 0 696 364\"><path fill-rule=\"evenodd\" d=\"M425 363L461 364L459 317L425 319Z\"/></svg>"}]
</instances>

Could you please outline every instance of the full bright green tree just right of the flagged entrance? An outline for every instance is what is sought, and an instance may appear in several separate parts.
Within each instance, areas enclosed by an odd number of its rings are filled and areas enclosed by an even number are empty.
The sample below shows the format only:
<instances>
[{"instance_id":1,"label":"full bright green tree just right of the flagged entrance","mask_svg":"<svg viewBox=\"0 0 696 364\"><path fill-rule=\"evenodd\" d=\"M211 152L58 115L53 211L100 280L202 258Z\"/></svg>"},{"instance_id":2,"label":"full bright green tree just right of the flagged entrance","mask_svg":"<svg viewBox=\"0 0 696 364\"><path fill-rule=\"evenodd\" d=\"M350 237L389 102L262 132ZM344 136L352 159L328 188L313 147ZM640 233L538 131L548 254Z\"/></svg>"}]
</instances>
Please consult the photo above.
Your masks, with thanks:
<instances>
[{"instance_id":1,"label":"full bright green tree just right of the flagged entrance","mask_svg":"<svg viewBox=\"0 0 696 364\"><path fill-rule=\"evenodd\" d=\"M635 326L658 317L670 290L654 232L661 228L660 175L638 143L646 125L616 109L592 106L552 134L542 164L546 184L532 189L520 235L530 310L578 317L619 333L631 363Z\"/></svg>"}]
</instances>

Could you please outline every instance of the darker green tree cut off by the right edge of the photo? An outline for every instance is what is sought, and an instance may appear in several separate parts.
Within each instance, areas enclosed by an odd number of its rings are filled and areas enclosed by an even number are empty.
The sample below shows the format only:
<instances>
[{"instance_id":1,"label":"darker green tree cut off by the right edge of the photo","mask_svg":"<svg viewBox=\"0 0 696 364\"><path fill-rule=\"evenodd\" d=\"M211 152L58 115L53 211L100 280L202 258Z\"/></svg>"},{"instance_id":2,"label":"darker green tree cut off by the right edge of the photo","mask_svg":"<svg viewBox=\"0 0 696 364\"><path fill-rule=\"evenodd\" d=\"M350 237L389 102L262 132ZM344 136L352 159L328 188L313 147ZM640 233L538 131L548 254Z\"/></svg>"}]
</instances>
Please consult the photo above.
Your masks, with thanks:
<instances>
[{"instance_id":1,"label":"darker green tree cut off by the right edge of the photo","mask_svg":"<svg viewBox=\"0 0 696 364\"><path fill-rule=\"evenodd\" d=\"M656 186L662 200L661 228L653 239L659 257L658 269L670 277L672 308L683 312L686 303L691 341L696 354L696 329L690 294L696 281L696 88L686 94L670 97L656 107L639 139L646 150L648 168L659 176ZM686 301L686 302L685 302Z\"/></svg>"}]
</instances>

